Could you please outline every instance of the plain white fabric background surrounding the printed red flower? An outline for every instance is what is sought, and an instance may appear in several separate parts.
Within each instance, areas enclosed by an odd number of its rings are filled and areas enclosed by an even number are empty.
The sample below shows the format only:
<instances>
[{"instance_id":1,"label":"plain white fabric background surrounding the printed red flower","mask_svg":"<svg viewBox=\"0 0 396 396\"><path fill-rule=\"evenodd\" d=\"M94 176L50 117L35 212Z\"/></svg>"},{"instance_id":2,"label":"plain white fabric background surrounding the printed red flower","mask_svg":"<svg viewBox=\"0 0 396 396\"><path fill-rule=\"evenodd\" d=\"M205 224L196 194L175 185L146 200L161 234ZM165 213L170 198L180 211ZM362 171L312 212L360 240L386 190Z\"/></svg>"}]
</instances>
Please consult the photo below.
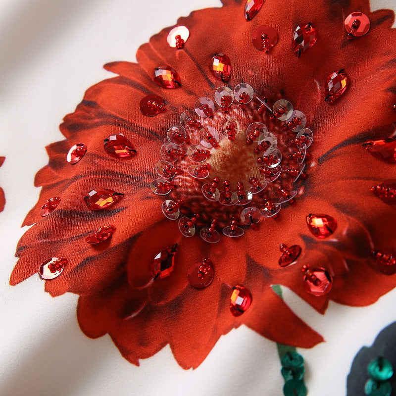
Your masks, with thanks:
<instances>
[{"instance_id":1,"label":"plain white fabric background surrounding the printed red flower","mask_svg":"<svg viewBox=\"0 0 396 396\"><path fill-rule=\"evenodd\" d=\"M181 369L169 347L136 367L108 336L84 336L77 296L51 298L35 276L8 285L20 224L39 196L34 176L48 162L45 146L62 139L63 116L109 77L104 63L135 61L152 34L207 6L220 1L0 0L0 395L282 395L276 345L244 326L222 337L197 370ZM372 1L378 8L396 2ZM356 352L396 319L395 297L396 290L365 308L331 303L321 316L285 291L291 308L326 340L302 351L309 395L345 395Z\"/></svg>"}]
</instances>

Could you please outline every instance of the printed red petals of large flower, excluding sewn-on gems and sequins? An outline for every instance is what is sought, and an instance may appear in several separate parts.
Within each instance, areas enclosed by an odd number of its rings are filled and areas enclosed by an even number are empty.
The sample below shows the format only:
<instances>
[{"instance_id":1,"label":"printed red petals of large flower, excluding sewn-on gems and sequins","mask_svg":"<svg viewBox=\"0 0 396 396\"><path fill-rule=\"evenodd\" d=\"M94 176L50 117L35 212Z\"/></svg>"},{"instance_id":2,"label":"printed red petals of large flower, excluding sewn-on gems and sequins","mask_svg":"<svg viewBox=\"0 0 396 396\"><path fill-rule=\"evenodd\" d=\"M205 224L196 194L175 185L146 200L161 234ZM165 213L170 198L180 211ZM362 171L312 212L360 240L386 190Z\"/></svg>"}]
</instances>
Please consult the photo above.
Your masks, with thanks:
<instances>
[{"instance_id":1,"label":"printed red petals of large flower, excluding sewn-on gems and sequins","mask_svg":"<svg viewBox=\"0 0 396 396\"><path fill-rule=\"evenodd\" d=\"M46 291L51 296L79 294L77 316L83 332L92 338L108 333L134 364L170 344L183 368L195 368L221 335L241 324L283 344L313 347L323 341L271 285L291 288L321 313L329 299L368 305L396 285L396 278L379 273L370 258L372 247L386 250L395 245L395 208L370 192L371 186L387 178L392 164L376 160L361 147L368 139L385 138L394 131L393 12L370 12L368 0L299 2L288 9L268 1L246 22L242 2L223 3L221 8L179 19L178 24L191 32L184 49L167 45L167 28L138 50L138 63L105 65L118 76L88 89L76 111L60 126L66 140L47 148L49 165L35 181L43 187L40 199L24 222L34 226L21 238L16 252L20 259L11 285L35 274L47 258L66 256L63 273L46 282ZM343 22L357 9L369 16L371 30L349 43ZM307 22L319 38L297 58L289 38L297 24ZM251 45L252 31L264 23L279 34L278 44L268 54ZM306 114L315 141L309 177L298 184L295 207L284 208L278 219L265 220L256 231L246 230L242 238L223 237L209 246L199 236L182 237L177 222L161 213L163 199L151 194L148 185L156 178L154 166L167 129L178 124L180 113L193 107L196 99L212 96L217 86L224 85L207 68L213 53L220 52L231 59L231 87L247 82L258 95L289 99ZM179 73L181 88L166 90L153 83L154 68L163 64ZM324 82L329 73L342 68L351 86L337 103L329 105L324 101ZM164 98L167 108L153 118L139 111L140 100L149 93ZM253 120L260 119L253 105L245 111ZM279 124L273 125L285 147L286 133L279 131ZM103 139L117 133L131 140L136 156L118 159L106 154ZM66 153L77 143L84 143L88 151L70 165ZM218 152L222 154L215 159L217 172L224 169L222 180L225 174L238 180L245 157L237 151ZM206 225L212 215L230 221L224 207L209 206L192 193L188 183L186 177L176 178L179 187L172 193L172 198L187 199L188 215L200 211ZM93 212L83 197L96 187L125 196L116 205ZM52 197L61 197L59 206L40 217L40 207ZM305 223L309 213L326 213L337 220L331 238L312 237ZM116 226L112 238L96 246L86 244L87 235L105 224ZM175 243L179 244L175 270L167 278L150 281L150 262ZM302 247L297 265L279 267L281 243ZM215 277L209 287L196 290L186 280L187 270L205 257L211 258ZM325 267L333 274L329 294L314 297L304 291L302 264ZM245 285L253 296L250 308L239 317L229 310L236 284Z\"/></svg>"}]
</instances>

